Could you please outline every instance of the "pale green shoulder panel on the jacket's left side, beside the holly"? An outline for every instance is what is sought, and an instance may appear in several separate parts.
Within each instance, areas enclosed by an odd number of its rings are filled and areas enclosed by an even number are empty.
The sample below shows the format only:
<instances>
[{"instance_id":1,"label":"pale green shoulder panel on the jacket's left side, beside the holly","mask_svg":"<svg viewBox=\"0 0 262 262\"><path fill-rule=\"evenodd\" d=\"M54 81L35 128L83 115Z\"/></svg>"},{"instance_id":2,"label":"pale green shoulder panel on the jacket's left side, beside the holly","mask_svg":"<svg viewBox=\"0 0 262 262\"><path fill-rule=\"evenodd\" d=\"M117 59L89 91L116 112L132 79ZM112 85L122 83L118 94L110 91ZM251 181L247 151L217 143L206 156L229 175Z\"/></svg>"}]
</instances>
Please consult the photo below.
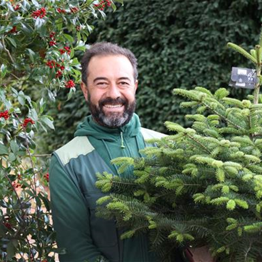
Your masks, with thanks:
<instances>
[{"instance_id":1,"label":"pale green shoulder panel on the jacket's left side, beside the holly","mask_svg":"<svg viewBox=\"0 0 262 262\"><path fill-rule=\"evenodd\" d=\"M61 162L66 165L70 159L77 158L79 155L87 155L94 149L86 136L77 136L56 150L55 153L59 156Z\"/></svg>"}]
</instances>

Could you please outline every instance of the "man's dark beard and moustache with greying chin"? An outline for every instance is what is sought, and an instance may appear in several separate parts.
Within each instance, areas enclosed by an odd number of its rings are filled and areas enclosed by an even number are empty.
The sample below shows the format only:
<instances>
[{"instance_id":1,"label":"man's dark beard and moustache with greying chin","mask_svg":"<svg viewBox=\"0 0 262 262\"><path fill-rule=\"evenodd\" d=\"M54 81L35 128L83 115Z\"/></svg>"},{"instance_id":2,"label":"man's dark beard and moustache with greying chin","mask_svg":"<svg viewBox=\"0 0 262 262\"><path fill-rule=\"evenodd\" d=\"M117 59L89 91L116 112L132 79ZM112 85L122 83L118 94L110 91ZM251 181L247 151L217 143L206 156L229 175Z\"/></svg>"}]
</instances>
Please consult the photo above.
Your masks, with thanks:
<instances>
[{"instance_id":1,"label":"man's dark beard and moustache with greying chin","mask_svg":"<svg viewBox=\"0 0 262 262\"><path fill-rule=\"evenodd\" d=\"M124 106L124 111L122 112L110 112L105 114L103 111L104 105L119 105ZM98 106L92 104L90 96L88 96L88 105L94 120L101 126L116 128L126 125L133 116L136 107L136 101L129 103L125 98L105 98L101 99Z\"/></svg>"}]
</instances>

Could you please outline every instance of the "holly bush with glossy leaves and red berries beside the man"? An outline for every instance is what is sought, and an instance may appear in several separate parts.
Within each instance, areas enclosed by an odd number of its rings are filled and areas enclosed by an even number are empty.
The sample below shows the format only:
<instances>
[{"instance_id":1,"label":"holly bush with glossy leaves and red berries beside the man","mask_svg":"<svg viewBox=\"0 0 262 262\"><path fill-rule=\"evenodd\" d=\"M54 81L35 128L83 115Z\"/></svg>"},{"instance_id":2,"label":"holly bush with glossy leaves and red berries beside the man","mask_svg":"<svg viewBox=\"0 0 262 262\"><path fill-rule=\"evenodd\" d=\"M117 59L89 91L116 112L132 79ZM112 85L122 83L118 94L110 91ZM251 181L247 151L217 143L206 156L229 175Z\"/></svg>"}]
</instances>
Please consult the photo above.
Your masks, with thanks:
<instances>
[{"instance_id":1,"label":"holly bush with glossy leaves and red berries beside the man","mask_svg":"<svg viewBox=\"0 0 262 262\"><path fill-rule=\"evenodd\" d=\"M47 101L80 82L76 54L94 20L122 0L0 1L0 260L55 261L47 193L48 154L38 132L54 129ZM32 95L37 94L37 95ZM44 160L39 160L43 157Z\"/></svg>"}]
</instances>

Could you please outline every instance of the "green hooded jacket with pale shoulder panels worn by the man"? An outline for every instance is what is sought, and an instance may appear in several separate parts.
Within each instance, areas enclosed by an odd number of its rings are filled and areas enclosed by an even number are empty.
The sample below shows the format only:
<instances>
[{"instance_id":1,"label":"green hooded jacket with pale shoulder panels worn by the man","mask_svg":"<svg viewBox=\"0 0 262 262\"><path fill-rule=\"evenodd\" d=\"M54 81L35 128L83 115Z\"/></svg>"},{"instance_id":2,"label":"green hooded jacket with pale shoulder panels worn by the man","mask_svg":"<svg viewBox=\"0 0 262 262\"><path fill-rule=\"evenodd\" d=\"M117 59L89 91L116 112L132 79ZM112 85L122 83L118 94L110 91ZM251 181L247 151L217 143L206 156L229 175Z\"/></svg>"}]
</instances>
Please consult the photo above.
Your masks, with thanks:
<instances>
[{"instance_id":1,"label":"green hooded jacket with pale shoulder panels worn by the man","mask_svg":"<svg viewBox=\"0 0 262 262\"><path fill-rule=\"evenodd\" d=\"M110 262L157 261L146 235L120 240L115 221L95 215L96 200L104 194L95 187L96 173L119 175L111 159L139 157L144 139L163 134L141 128L134 114L122 128L105 128L91 116L79 125L75 138L54 152L50 165L50 192L57 241L66 254L60 262L94 262L101 256ZM124 176L130 176L132 169Z\"/></svg>"}]
</instances>

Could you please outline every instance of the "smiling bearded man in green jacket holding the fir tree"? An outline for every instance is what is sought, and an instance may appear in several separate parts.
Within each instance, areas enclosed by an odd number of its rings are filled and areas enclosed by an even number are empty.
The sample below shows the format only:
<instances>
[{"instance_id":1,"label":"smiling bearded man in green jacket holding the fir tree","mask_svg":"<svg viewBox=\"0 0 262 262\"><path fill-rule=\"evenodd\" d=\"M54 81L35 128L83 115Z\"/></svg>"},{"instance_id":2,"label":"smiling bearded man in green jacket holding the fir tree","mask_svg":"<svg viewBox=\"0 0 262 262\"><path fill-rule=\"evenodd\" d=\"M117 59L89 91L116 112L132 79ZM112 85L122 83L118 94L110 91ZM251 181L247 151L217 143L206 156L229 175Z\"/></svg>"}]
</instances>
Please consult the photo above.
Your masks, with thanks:
<instances>
[{"instance_id":1,"label":"smiling bearded man in green jacket holding the fir tree","mask_svg":"<svg viewBox=\"0 0 262 262\"><path fill-rule=\"evenodd\" d=\"M54 152L50 166L54 227L59 247L66 248L60 262L158 261L146 235L120 240L123 231L115 221L95 215L103 196L95 187L96 173L120 175L113 158L140 157L145 139L163 136L141 128L134 114L137 75L133 53L111 43L93 45L82 59L81 88L91 115L75 138ZM131 168L121 174L130 175Z\"/></svg>"}]
</instances>

